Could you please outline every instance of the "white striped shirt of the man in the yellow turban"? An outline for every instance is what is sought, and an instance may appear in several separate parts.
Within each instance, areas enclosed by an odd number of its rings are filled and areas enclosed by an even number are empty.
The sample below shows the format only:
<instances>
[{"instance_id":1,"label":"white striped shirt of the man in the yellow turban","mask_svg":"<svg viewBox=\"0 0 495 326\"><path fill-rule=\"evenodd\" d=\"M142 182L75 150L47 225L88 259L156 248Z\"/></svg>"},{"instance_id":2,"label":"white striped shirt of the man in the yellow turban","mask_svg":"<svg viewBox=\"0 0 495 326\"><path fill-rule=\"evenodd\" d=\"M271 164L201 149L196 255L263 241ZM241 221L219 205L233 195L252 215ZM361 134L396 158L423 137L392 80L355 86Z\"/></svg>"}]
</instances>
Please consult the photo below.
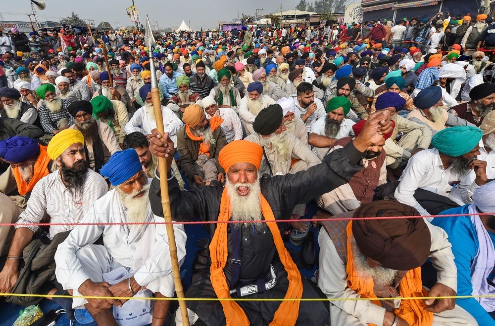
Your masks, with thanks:
<instances>
[{"instance_id":1,"label":"white striped shirt of the man in the yellow turban","mask_svg":"<svg viewBox=\"0 0 495 326\"><path fill-rule=\"evenodd\" d=\"M79 223L93 203L108 191L105 179L95 171L87 169L83 190L78 198L74 198L71 191L65 187L60 171L50 173L34 186L26 210L19 215L19 223L40 223L46 215L50 216L50 223ZM20 226L36 232L38 226ZM50 226L49 238L60 233L72 230L73 225Z\"/></svg>"}]
</instances>

